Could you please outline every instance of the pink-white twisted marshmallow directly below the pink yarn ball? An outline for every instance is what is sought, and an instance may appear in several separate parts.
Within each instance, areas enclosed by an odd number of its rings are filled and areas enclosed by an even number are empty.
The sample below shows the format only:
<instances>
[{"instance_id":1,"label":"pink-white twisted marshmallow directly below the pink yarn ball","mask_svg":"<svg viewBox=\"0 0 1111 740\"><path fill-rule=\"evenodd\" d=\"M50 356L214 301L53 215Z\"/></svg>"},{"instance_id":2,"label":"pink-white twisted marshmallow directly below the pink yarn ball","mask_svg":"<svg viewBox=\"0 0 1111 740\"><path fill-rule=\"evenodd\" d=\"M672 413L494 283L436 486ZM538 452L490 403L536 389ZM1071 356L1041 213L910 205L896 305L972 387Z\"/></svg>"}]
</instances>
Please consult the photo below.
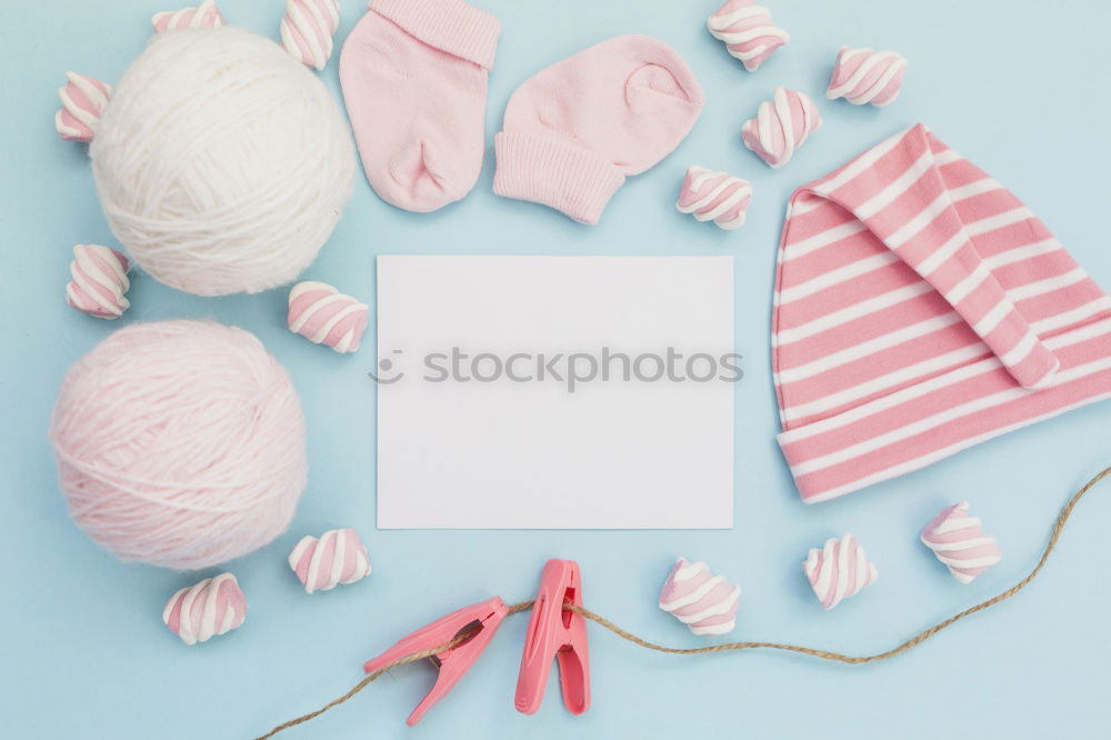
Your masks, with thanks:
<instances>
[{"instance_id":1,"label":"pink-white twisted marshmallow directly below the pink yarn ball","mask_svg":"<svg viewBox=\"0 0 1111 740\"><path fill-rule=\"evenodd\" d=\"M231 573L206 578L174 593L166 603L162 621L186 644L204 642L243 623L247 599Z\"/></svg>"}]
</instances>

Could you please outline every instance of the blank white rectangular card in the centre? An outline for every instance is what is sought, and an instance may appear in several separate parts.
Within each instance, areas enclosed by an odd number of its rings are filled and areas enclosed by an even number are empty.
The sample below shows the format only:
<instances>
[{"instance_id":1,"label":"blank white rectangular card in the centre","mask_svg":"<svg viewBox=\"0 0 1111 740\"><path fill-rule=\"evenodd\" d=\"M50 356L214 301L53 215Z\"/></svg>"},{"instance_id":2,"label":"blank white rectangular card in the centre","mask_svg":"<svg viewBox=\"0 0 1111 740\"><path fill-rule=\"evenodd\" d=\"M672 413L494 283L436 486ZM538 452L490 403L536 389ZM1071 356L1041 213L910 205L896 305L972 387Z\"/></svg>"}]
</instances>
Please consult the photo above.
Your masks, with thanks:
<instances>
[{"instance_id":1,"label":"blank white rectangular card in the centre","mask_svg":"<svg viewBox=\"0 0 1111 740\"><path fill-rule=\"evenodd\" d=\"M732 527L728 257L379 257L378 526Z\"/></svg>"}]
</instances>

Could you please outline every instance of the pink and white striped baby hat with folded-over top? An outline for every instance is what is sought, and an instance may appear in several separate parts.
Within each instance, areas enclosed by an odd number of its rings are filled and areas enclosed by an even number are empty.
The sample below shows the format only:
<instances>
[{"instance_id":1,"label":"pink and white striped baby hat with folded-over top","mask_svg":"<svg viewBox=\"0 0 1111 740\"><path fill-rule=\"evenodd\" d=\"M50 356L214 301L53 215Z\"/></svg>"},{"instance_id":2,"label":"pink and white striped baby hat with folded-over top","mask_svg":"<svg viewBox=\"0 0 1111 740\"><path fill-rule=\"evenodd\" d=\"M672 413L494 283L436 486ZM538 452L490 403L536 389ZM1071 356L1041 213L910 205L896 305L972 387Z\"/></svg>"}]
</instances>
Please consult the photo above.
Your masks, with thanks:
<instances>
[{"instance_id":1,"label":"pink and white striped baby hat with folded-over top","mask_svg":"<svg viewBox=\"0 0 1111 740\"><path fill-rule=\"evenodd\" d=\"M919 124L791 198L772 358L807 502L1111 397L1111 299Z\"/></svg>"}]
</instances>

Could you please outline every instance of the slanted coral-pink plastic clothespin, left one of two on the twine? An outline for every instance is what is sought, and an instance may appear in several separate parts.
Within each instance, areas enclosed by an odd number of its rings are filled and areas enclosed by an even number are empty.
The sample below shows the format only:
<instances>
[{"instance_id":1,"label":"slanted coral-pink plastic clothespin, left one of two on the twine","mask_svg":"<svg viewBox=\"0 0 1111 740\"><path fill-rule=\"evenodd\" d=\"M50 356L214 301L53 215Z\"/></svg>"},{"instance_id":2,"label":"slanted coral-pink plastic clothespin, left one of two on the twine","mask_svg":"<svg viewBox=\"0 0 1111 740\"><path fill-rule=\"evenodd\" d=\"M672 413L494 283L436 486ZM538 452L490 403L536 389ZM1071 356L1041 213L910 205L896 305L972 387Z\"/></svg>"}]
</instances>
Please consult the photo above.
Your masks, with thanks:
<instances>
[{"instance_id":1,"label":"slanted coral-pink plastic clothespin, left one of two on the twine","mask_svg":"<svg viewBox=\"0 0 1111 740\"><path fill-rule=\"evenodd\" d=\"M452 638L473 630L474 633L466 642L449 648L443 652L432 656L433 662L439 667L440 674L436 679L436 686L428 692L417 709L413 710L409 719L406 720L409 727L417 724L432 704L440 701L451 691L463 674L470 670L486 647L498 631L501 620L506 618L506 604L498 597L463 607L459 611L453 611L446 617L441 617L431 624L427 624L416 632L398 640L398 642L380 654L378 658L368 660L362 669L367 673L380 670L394 660L430 650L451 641Z\"/></svg>"}]
</instances>

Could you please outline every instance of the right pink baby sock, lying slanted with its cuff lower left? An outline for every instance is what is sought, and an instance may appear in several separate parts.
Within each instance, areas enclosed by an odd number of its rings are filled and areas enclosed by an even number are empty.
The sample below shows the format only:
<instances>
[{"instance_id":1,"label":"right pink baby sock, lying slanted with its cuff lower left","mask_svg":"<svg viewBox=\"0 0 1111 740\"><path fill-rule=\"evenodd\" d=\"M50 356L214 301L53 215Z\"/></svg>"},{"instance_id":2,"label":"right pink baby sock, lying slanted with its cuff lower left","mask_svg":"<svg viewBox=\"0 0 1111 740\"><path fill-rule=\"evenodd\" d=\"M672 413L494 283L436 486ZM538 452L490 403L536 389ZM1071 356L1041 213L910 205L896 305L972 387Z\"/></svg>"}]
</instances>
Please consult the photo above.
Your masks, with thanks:
<instances>
[{"instance_id":1,"label":"right pink baby sock, lying slanted with its cuff lower left","mask_svg":"<svg viewBox=\"0 0 1111 740\"><path fill-rule=\"evenodd\" d=\"M702 89L670 47L644 36L602 41L509 99L493 190L597 223L625 176L667 157L701 110Z\"/></svg>"}]
</instances>

